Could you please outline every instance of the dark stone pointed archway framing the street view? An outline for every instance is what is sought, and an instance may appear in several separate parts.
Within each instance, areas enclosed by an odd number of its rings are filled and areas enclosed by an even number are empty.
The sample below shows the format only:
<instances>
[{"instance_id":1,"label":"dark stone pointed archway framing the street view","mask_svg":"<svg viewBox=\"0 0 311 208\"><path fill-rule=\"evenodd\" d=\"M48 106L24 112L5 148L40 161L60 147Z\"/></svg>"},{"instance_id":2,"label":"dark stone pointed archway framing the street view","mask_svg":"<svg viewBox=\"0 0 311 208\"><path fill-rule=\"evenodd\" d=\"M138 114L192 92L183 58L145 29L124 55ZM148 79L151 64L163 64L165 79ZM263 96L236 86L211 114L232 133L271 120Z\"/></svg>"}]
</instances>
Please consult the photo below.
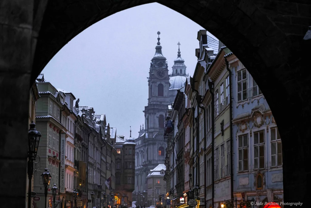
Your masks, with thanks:
<instances>
[{"instance_id":1,"label":"dark stone pointed archway framing the street view","mask_svg":"<svg viewBox=\"0 0 311 208\"><path fill-rule=\"evenodd\" d=\"M283 144L284 199L304 202L311 187L311 25L309 0L2 0L0 6L0 199L26 197L30 85L53 56L95 22L159 2L219 38L261 88Z\"/></svg>"}]
</instances>

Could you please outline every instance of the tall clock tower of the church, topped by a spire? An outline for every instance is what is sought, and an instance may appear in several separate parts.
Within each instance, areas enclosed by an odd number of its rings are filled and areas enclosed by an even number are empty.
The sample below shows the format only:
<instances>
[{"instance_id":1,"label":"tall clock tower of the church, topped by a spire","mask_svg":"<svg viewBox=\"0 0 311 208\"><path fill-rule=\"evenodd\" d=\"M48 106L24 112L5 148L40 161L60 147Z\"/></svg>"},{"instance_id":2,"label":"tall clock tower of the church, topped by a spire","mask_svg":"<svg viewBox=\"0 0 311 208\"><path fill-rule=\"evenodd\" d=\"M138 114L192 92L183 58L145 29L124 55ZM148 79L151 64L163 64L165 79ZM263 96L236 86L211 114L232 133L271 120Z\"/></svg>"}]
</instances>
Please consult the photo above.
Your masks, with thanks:
<instances>
[{"instance_id":1,"label":"tall clock tower of the church, topped by a spire","mask_svg":"<svg viewBox=\"0 0 311 208\"><path fill-rule=\"evenodd\" d=\"M148 77L148 106L145 106L145 131L148 138L163 139L165 113L169 102L169 70L162 54L160 32L156 53L151 59Z\"/></svg>"}]
</instances>

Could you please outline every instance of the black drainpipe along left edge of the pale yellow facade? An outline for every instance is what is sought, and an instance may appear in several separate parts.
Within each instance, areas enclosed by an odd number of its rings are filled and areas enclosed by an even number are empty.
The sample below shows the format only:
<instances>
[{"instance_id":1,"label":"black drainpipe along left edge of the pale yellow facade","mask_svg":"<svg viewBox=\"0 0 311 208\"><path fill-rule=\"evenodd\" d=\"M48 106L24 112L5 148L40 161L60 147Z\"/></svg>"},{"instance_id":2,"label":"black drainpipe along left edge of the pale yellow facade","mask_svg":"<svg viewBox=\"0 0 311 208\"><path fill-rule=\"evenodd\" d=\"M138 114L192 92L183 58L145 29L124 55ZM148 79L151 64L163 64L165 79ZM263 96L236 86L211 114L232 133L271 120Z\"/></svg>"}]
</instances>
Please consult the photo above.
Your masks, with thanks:
<instances>
[{"instance_id":1,"label":"black drainpipe along left edge of the pale yellow facade","mask_svg":"<svg viewBox=\"0 0 311 208\"><path fill-rule=\"evenodd\" d=\"M212 167L213 167L213 171L212 171L212 208L214 208L214 195L215 195L215 176L214 176L214 170L215 170L215 167L214 167L214 158L215 158L215 155L214 155L214 137L215 137L215 120L214 120L214 117L215 117L215 106L214 106L214 102L215 102L215 98L214 98L214 82L208 80L208 88L210 90L210 93L211 93L211 97L212 97L212 106L211 106L211 112L212 112Z\"/></svg>"}]
</instances>

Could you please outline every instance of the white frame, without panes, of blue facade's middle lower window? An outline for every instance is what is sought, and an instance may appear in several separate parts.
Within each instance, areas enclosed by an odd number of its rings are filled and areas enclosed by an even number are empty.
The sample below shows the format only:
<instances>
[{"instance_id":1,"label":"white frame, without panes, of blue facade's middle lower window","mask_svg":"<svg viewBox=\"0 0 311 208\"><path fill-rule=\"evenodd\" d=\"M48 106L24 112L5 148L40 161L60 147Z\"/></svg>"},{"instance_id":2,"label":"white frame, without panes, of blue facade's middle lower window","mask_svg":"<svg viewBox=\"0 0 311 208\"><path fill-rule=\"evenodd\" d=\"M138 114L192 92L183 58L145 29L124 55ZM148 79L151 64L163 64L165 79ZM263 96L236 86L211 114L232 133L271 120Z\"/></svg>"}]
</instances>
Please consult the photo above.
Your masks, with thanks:
<instances>
[{"instance_id":1,"label":"white frame, without panes, of blue facade's middle lower window","mask_svg":"<svg viewBox=\"0 0 311 208\"><path fill-rule=\"evenodd\" d=\"M265 128L265 127L264 127ZM266 163L266 148L265 148L265 141L266 141L266 131L264 128L259 128L258 130L253 130L252 137L253 137L253 169L254 170L263 170L265 169L265 163ZM260 137L258 137L258 143L255 144L255 134L259 134L260 132L263 132L263 142L260 143ZM259 135L258 135L259 136ZM258 155L255 155L255 147L258 147ZM263 156L259 156L260 154L260 147L263 148ZM263 157L263 167L260 168L260 157ZM258 161L257 165L258 167L255 167L255 160Z\"/></svg>"}]
</instances>

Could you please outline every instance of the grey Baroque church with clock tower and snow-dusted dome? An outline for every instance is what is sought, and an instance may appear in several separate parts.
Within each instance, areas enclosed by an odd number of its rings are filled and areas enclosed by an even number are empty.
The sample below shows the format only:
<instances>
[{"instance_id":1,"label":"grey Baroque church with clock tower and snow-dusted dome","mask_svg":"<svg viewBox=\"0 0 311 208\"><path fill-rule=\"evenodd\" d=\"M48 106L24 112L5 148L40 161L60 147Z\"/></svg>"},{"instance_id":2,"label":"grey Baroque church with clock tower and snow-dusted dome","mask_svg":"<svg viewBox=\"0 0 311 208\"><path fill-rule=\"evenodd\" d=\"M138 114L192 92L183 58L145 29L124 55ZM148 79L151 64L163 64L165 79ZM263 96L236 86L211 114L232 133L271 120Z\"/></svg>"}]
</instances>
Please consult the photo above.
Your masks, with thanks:
<instances>
[{"instance_id":1,"label":"grey Baroque church with clock tower and snow-dusted dome","mask_svg":"<svg viewBox=\"0 0 311 208\"><path fill-rule=\"evenodd\" d=\"M139 136L135 139L135 191L133 197L138 196L136 201L142 200L143 203L148 198L146 177L152 169L163 164L165 160L167 143L164 140L164 123L167 106L172 104L177 90L185 85L188 76L186 65L181 58L179 42L177 59L174 60L172 73L169 73L168 64L160 45L160 32L157 34L156 53L151 59L149 68L148 104L143 111L145 124L142 125ZM139 192L142 193L141 197L139 197Z\"/></svg>"}]
</instances>

